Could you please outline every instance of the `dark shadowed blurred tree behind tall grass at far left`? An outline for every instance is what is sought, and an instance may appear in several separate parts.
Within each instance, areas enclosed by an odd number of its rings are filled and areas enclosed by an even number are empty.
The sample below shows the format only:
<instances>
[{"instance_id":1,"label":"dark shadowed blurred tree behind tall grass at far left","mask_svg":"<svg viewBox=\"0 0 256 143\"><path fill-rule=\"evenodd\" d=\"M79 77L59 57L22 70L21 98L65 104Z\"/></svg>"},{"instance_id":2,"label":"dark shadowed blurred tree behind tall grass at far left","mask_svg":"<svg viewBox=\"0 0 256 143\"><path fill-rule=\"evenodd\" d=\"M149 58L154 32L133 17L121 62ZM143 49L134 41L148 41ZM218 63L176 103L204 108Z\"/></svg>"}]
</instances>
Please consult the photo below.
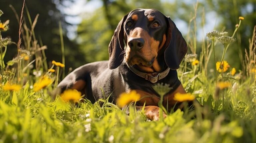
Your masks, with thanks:
<instances>
[{"instance_id":1,"label":"dark shadowed blurred tree behind tall grass at far left","mask_svg":"<svg viewBox=\"0 0 256 143\"><path fill-rule=\"evenodd\" d=\"M52 60L62 61L59 21L62 22L66 70L68 70L69 67L75 68L85 63L84 55L79 51L78 45L67 37L67 29L70 24L65 21L66 14L63 14L60 9L57 8L60 6L70 6L69 4L73 1L74 0L26 0L26 7L32 22L35 16L39 14L35 27L35 36L38 41L42 40L43 45L47 45L48 49L45 50L45 53L48 62ZM10 36L14 42L18 41L19 23L9 5L15 8L20 17L22 4L23 0L1 0L0 2L0 9L4 12L1 20L10 20L10 30L2 34L4 36ZM30 27L26 9L24 9L24 24ZM22 42L24 41L22 40ZM12 44L8 47L4 59L5 62L11 60L16 55L17 46Z\"/></svg>"}]
</instances>

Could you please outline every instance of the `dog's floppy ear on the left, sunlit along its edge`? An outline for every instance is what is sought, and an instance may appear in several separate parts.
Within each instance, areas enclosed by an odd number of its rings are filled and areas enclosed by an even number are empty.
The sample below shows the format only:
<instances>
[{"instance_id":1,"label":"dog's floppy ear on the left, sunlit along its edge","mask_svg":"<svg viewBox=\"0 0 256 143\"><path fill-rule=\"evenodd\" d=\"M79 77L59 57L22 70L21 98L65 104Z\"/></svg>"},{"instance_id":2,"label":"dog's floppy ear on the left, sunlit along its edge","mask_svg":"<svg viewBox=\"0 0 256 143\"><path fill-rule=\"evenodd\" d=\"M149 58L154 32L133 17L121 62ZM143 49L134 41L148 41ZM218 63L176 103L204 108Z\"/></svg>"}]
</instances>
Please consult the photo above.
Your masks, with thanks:
<instances>
[{"instance_id":1,"label":"dog's floppy ear on the left, sunlit along its edge","mask_svg":"<svg viewBox=\"0 0 256 143\"><path fill-rule=\"evenodd\" d=\"M109 62L108 68L117 68L124 59L124 21L126 20L128 14L125 15L119 22L114 35L108 45Z\"/></svg>"}]
</instances>

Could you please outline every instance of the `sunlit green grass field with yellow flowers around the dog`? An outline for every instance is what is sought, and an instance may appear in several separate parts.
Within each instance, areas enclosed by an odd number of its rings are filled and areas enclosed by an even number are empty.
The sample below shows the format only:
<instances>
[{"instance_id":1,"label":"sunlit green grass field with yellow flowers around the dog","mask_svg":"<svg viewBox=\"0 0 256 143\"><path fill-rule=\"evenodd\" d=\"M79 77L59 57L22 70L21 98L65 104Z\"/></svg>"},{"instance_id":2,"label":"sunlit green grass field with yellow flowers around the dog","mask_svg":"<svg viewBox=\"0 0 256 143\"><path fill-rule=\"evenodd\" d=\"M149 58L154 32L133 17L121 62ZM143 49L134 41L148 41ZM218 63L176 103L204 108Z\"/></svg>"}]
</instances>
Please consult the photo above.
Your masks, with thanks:
<instances>
[{"instance_id":1,"label":"sunlit green grass field with yellow flowers around the dog","mask_svg":"<svg viewBox=\"0 0 256 143\"><path fill-rule=\"evenodd\" d=\"M8 30L8 21L0 25L0 143L256 142L255 35L243 55L243 69L235 71L224 59L225 52L232 50L229 44L237 44L233 37L242 24L242 17L233 36L208 33L209 39L206 37L203 41L198 55L195 52L198 43L191 40L196 37L186 39L192 53L181 63L178 76L185 90L203 107L171 111L159 121L146 119L143 112L135 112L132 106L128 116L103 99L102 107L99 102L92 105L86 99L76 106L72 101L63 101L59 95L54 99L63 65L53 62L53 66L48 67L44 47L37 43L33 32L36 19L31 20L30 29L21 27L20 39L25 48L21 49L18 42L18 55L7 64L3 58L12 42L1 33ZM193 35L193 31L191 33ZM210 59L215 57L215 46L223 47L222 59ZM214 66L209 67L209 63Z\"/></svg>"}]
</instances>

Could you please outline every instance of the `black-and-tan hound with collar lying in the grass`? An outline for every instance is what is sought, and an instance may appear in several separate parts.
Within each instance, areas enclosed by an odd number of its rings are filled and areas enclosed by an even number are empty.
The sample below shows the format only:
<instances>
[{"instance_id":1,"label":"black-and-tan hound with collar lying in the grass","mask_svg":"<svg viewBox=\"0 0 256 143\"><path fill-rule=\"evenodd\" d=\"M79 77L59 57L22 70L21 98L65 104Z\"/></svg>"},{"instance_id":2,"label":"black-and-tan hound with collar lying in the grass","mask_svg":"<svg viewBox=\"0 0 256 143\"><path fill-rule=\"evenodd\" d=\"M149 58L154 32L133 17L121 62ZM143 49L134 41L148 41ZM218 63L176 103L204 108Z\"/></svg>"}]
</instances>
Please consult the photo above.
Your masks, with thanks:
<instances>
[{"instance_id":1,"label":"black-and-tan hound with collar lying in the grass","mask_svg":"<svg viewBox=\"0 0 256 143\"><path fill-rule=\"evenodd\" d=\"M125 46L126 45L126 46ZM174 22L156 9L135 9L119 22L109 43L109 61L85 64L68 74L58 85L63 92L76 89L92 103L111 95L109 102L123 92L135 90L141 95L136 109L150 120L159 119L160 95L152 88L158 83L172 88L164 95L163 106L174 101L175 93L186 93L177 69L187 53L187 44ZM164 117L166 114L164 114Z\"/></svg>"}]
</instances>

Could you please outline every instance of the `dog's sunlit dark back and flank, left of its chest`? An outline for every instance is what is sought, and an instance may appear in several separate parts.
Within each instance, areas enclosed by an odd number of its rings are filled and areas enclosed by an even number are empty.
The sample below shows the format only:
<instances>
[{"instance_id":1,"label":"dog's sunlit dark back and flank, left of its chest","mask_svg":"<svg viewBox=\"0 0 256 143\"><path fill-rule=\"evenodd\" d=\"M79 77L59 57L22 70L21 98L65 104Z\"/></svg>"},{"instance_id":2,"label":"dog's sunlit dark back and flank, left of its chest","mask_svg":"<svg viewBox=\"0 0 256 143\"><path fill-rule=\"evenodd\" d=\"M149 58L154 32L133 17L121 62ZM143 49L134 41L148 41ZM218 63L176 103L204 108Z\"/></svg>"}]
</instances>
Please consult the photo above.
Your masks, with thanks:
<instances>
[{"instance_id":1,"label":"dog's sunlit dark back and flank, left of its chest","mask_svg":"<svg viewBox=\"0 0 256 143\"><path fill-rule=\"evenodd\" d=\"M78 67L58 85L61 93L66 89L79 89L92 103L109 95L124 92L124 82L119 68L109 69L108 61L88 63ZM105 96L105 97L104 97ZM115 101L111 96L109 101Z\"/></svg>"}]
</instances>

